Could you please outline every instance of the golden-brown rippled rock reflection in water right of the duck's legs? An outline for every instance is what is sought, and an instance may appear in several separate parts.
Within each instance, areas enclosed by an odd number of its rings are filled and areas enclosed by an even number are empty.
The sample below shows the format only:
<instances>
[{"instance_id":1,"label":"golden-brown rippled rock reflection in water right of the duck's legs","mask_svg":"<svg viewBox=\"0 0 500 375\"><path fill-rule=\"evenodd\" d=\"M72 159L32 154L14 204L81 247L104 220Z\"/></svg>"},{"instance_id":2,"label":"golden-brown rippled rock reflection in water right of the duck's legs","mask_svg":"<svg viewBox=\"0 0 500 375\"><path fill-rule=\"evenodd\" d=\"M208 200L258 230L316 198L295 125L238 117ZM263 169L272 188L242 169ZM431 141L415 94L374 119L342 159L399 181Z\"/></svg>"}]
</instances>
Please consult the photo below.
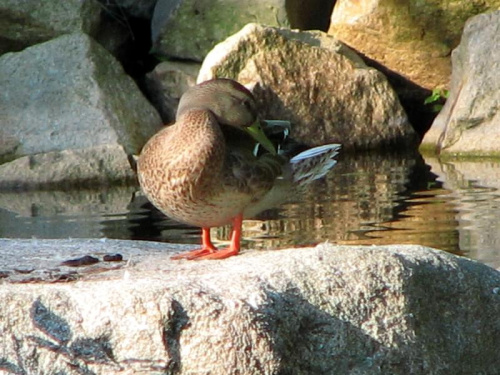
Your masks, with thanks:
<instances>
[{"instance_id":1,"label":"golden-brown rippled rock reflection in water right of the duck's legs","mask_svg":"<svg viewBox=\"0 0 500 375\"><path fill-rule=\"evenodd\" d=\"M428 205L418 197L411 203L404 201L417 191L427 190L427 182L432 179L428 168L414 155L343 155L326 179L296 192L288 203L265 215L265 221L245 221L244 237L252 241L251 247L260 248L329 240L423 243L454 251L451 207ZM452 234L435 236L429 221L440 230L445 225ZM384 230L389 228L394 230ZM214 231L219 238L228 238L227 228Z\"/></svg>"}]
</instances>

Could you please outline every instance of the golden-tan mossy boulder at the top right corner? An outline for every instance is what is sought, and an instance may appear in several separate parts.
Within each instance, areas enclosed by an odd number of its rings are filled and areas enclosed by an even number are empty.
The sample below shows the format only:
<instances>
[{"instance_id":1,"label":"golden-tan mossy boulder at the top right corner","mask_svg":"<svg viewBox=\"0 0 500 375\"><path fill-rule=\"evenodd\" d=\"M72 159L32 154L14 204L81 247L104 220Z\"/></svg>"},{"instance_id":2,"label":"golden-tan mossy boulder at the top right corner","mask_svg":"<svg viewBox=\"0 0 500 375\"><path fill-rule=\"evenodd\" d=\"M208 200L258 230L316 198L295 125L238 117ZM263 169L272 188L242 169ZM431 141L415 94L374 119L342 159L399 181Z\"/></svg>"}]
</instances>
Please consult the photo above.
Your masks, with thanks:
<instances>
[{"instance_id":1,"label":"golden-tan mossy boulder at the top right corner","mask_svg":"<svg viewBox=\"0 0 500 375\"><path fill-rule=\"evenodd\" d=\"M466 20L499 0L338 0L329 34L427 89L447 87L450 52Z\"/></svg>"}]
</instances>

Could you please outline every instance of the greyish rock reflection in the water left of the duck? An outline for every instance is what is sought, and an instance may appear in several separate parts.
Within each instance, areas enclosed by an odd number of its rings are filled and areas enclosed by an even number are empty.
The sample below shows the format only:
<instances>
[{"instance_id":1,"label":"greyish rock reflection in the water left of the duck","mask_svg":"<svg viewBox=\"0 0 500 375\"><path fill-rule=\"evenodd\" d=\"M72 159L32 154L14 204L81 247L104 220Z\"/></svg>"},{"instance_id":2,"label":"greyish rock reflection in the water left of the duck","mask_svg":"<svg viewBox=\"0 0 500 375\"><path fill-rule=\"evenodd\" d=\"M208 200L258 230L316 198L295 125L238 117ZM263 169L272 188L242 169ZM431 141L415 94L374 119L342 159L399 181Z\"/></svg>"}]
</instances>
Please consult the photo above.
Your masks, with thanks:
<instances>
[{"instance_id":1,"label":"greyish rock reflection in the water left of the duck","mask_svg":"<svg viewBox=\"0 0 500 375\"><path fill-rule=\"evenodd\" d=\"M103 237L101 222L123 219L135 190L2 191L0 237Z\"/></svg>"}]
</instances>

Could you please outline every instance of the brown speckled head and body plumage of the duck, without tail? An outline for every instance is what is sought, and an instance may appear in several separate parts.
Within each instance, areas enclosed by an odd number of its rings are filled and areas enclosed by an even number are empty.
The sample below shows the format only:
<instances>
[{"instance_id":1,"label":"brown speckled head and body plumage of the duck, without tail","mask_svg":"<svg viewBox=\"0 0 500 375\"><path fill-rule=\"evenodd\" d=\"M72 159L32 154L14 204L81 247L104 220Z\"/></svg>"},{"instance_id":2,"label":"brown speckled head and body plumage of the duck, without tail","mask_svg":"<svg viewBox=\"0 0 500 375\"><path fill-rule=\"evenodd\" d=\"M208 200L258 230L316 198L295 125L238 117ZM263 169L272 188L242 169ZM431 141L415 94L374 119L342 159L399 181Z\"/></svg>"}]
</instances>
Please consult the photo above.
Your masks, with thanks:
<instances>
[{"instance_id":1,"label":"brown speckled head and body plumage of the duck, without tail","mask_svg":"<svg viewBox=\"0 0 500 375\"><path fill-rule=\"evenodd\" d=\"M223 127L256 120L250 92L231 80L191 88L174 125L156 134L138 162L142 189L169 217L200 227L230 223L259 200L281 173L281 158L256 158L250 147L226 140ZM241 134L246 139L246 133Z\"/></svg>"}]
</instances>

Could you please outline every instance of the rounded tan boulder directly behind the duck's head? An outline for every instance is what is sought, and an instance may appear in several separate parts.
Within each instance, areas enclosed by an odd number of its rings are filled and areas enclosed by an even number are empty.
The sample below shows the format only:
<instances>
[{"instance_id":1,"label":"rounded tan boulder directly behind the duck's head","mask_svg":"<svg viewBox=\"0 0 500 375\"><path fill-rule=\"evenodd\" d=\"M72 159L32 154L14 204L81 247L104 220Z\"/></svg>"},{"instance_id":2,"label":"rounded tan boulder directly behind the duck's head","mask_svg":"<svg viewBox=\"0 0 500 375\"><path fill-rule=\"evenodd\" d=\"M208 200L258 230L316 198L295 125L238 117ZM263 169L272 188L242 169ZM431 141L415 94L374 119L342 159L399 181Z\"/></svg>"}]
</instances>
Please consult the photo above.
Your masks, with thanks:
<instances>
[{"instance_id":1,"label":"rounded tan boulder directly behind the duck's head","mask_svg":"<svg viewBox=\"0 0 500 375\"><path fill-rule=\"evenodd\" d=\"M250 24L206 57L198 82L228 77L250 87L263 118L292 122L309 145L404 148L416 143L386 78L321 32Z\"/></svg>"}]
</instances>

